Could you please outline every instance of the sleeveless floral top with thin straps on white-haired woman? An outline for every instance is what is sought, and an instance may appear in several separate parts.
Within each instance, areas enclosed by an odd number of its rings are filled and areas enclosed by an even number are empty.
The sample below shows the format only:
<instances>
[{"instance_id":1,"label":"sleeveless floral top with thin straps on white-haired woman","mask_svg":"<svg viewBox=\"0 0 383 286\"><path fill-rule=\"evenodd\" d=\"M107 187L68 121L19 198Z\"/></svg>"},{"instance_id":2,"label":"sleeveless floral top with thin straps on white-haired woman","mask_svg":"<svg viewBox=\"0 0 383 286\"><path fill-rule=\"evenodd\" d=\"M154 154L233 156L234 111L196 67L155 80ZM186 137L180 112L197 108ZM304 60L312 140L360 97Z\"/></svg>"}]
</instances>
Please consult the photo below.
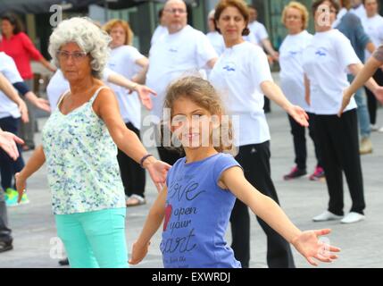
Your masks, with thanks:
<instances>
[{"instance_id":1,"label":"sleeveless floral top with thin straps on white-haired woman","mask_svg":"<svg viewBox=\"0 0 383 286\"><path fill-rule=\"evenodd\" d=\"M43 148L54 214L75 214L125 206L117 147L93 103L62 114L60 104L44 126Z\"/></svg>"}]
</instances>

